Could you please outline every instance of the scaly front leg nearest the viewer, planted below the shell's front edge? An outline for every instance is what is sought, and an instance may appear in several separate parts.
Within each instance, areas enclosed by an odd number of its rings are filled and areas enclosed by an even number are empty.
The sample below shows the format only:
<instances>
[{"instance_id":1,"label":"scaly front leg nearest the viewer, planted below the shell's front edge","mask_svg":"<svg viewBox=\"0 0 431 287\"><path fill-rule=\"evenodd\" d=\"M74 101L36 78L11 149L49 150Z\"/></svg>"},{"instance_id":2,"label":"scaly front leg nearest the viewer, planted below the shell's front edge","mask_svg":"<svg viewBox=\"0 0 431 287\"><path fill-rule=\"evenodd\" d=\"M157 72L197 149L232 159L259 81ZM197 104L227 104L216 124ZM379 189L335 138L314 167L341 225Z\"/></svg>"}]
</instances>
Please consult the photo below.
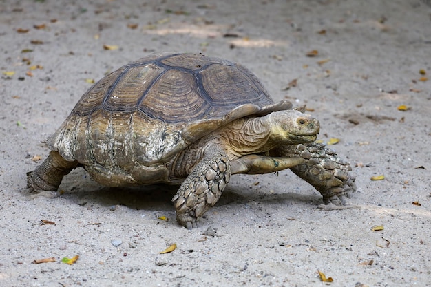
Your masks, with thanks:
<instances>
[{"instance_id":1,"label":"scaly front leg nearest the viewer, planted below the shell's front edge","mask_svg":"<svg viewBox=\"0 0 431 287\"><path fill-rule=\"evenodd\" d=\"M226 152L211 145L172 198L178 223L187 229L197 227L198 217L218 201L230 177Z\"/></svg>"}]
</instances>

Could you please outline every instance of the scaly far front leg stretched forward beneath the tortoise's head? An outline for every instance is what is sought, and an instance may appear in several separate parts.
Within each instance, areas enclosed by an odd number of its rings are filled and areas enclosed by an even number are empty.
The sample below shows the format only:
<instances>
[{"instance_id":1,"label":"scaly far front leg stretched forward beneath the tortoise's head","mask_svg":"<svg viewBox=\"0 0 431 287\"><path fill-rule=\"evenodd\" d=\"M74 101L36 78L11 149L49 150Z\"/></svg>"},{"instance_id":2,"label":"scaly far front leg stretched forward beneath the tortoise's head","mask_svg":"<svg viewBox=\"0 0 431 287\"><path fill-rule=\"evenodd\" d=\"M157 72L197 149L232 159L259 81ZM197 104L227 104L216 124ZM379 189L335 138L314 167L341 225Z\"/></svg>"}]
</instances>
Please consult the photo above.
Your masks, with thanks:
<instances>
[{"instance_id":1,"label":"scaly far front leg stretched forward beneath the tortoise's head","mask_svg":"<svg viewBox=\"0 0 431 287\"><path fill-rule=\"evenodd\" d=\"M312 142L308 145L285 145L273 151L278 156L300 156L306 162L291 167L291 171L319 191L324 204L346 204L346 198L356 191L355 178L350 175L350 164L333 149Z\"/></svg>"}]
</instances>

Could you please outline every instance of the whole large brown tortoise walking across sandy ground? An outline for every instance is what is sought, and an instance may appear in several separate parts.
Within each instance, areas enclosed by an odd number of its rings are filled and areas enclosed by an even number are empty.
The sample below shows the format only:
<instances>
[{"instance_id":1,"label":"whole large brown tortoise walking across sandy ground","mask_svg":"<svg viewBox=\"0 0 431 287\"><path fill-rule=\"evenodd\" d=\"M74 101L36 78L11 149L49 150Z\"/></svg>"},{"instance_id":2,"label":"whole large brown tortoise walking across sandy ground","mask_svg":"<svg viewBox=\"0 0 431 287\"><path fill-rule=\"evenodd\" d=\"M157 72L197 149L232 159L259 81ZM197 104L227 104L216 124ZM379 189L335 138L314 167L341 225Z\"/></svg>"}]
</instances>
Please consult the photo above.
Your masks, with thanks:
<instances>
[{"instance_id":1,"label":"whole large brown tortoise walking across sandy ground","mask_svg":"<svg viewBox=\"0 0 431 287\"><path fill-rule=\"evenodd\" d=\"M151 54L108 74L47 140L48 158L28 172L32 191L56 191L84 167L109 187L180 184L179 224L197 226L231 175L290 168L343 205L356 190L348 162L315 142L319 121L274 103L244 66L202 54Z\"/></svg>"}]
</instances>

